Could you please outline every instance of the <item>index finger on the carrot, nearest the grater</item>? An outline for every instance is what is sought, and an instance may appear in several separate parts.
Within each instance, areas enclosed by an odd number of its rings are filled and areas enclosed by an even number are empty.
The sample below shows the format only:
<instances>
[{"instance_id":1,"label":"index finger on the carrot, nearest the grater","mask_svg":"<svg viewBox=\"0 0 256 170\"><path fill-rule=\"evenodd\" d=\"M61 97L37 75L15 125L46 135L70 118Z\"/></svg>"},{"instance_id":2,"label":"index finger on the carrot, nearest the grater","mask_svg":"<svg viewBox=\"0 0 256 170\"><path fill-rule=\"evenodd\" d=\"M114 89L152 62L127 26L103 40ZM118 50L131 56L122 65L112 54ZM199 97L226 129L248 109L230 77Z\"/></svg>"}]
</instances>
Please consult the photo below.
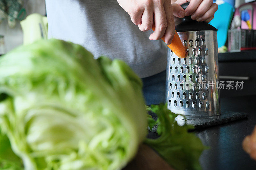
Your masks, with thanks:
<instances>
[{"instance_id":1,"label":"index finger on the carrot, nearest the grater","mask_svg":"<svg viewBox=\"0 0 256 170\"><path fill-rule=\"evenodd\" d=\"M174 37L174 33L175 33L172 4L164 3L164 11L165 11L166 22L167 22L167 27L164 34L164 41L167 45L169 45L171 44L172 39Z\"/></svg>"}]
</instances>

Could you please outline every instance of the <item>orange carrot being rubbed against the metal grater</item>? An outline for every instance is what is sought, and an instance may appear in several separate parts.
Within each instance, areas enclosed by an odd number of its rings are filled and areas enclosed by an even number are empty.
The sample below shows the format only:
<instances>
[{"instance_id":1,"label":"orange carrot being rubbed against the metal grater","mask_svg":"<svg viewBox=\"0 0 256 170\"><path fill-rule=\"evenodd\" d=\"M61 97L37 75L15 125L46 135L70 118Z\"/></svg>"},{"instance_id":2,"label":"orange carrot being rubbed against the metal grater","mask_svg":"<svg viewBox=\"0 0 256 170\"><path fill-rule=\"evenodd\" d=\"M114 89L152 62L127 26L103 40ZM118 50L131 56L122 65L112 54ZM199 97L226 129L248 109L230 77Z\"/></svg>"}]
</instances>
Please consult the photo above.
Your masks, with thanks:
<instances>
[{"instance_id":1,"label":"orange carrot being rubbed against the metal grater","mask_svg":"<svg viewBox=\"0 0 256 170\"><path fill-rule=\"evenodd\" d=\"M155 31L155 26L152 26L152 30ZM162 37L162 40L164 41L164 37ZM186 56L186 50L180 41L180 37L178 33L175 31L174 37L172 39L172 43L167 45L172 52L174 52L178 57L184 58Z\"/></svg>"}]
</instances>

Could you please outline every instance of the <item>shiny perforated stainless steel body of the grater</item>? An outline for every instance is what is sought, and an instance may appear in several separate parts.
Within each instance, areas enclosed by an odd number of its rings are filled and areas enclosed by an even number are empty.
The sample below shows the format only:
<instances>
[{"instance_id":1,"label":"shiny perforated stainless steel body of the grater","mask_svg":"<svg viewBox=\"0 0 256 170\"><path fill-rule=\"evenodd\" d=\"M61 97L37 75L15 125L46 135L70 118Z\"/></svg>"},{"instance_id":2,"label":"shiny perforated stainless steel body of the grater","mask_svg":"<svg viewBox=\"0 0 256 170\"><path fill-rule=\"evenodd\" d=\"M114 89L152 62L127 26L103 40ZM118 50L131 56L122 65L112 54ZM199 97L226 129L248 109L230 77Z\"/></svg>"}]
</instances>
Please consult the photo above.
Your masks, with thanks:
<instances>
[{"instance_id":1,"label":"shiny perforated stainless steel body of the grater","mask_svg":"<svg viewBox=\"0 0 256 170\"><path fill-rule=\"evenodd\" d=\"M216 88L219 81L217 32L190 31L178 34L188 55L179 59L168 49L168 108L181 115L220 115L220 92Z\"/></svg>"}]
</instances>

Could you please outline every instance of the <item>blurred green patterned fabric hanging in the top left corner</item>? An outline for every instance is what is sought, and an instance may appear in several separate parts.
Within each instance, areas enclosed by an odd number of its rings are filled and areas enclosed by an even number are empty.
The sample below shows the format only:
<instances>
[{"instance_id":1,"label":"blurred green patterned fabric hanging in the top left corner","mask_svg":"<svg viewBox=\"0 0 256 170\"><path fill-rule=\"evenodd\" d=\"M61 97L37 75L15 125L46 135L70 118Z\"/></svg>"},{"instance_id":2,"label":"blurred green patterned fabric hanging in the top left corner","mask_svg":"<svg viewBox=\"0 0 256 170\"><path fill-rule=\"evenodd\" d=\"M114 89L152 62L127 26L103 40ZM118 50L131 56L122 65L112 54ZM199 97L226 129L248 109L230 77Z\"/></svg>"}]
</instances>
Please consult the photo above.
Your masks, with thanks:
<instances>
[{"instance_id":1,"label":"blurred green patterned fabric hanging in the top left corner","mask_svg":"<svg viewBox=\"0 0 256 170\"><path fill-rule=\"evenodd\" d=\"M17 19L24 19L26 11L22 5L23 0L0 0L0 23L7 19L8 25L13 28Z\"/></svg>"}]
</instances>

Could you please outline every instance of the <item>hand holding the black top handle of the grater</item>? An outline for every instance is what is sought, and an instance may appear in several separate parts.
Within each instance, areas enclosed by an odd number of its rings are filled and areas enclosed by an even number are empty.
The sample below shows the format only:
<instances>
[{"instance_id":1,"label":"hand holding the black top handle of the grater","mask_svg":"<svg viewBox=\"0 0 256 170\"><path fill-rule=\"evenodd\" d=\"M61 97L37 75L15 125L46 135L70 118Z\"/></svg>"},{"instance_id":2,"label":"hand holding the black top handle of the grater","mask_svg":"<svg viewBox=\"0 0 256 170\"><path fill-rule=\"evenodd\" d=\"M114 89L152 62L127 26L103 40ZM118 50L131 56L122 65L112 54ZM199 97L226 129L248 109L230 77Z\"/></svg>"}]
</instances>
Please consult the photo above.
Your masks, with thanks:
<instances>
[{"instance_id":1,"label":"hand holding the black top handle of the grater","mask_svg":"<svg viewBox=\"0 0 256 170\"><path fill-rule=\"evenodd\" d=\"M186 2L190 3L185 10L185 16L191 15L192 19L199 22L210 22L218 9L218 5L213 3L213 0L172 0L172 4L181 5Z\"/></svg>"}]
</instances>

